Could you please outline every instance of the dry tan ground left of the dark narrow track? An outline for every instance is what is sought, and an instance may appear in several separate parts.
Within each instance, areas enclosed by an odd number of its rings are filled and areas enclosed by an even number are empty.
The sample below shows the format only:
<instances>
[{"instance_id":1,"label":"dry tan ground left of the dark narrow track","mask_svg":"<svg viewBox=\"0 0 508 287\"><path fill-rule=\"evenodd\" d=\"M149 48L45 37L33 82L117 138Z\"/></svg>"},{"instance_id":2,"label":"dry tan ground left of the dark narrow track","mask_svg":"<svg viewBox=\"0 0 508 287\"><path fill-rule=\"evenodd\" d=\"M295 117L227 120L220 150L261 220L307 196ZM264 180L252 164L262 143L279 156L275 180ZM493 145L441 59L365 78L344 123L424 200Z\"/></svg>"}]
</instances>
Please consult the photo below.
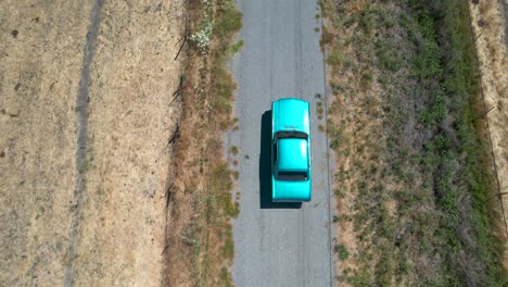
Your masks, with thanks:
<instances>
[{"instance_id":1,"label":"dry tan ground left of the dark narrow track","mask_svg":"<svg viewBox=\"0 0 508 287\"><path fill-rule=\"evenodd\" d=\"M1 286L63 285L77 173L73 108L90 10L0 3Z\"/></svg>"}]
</instances>

